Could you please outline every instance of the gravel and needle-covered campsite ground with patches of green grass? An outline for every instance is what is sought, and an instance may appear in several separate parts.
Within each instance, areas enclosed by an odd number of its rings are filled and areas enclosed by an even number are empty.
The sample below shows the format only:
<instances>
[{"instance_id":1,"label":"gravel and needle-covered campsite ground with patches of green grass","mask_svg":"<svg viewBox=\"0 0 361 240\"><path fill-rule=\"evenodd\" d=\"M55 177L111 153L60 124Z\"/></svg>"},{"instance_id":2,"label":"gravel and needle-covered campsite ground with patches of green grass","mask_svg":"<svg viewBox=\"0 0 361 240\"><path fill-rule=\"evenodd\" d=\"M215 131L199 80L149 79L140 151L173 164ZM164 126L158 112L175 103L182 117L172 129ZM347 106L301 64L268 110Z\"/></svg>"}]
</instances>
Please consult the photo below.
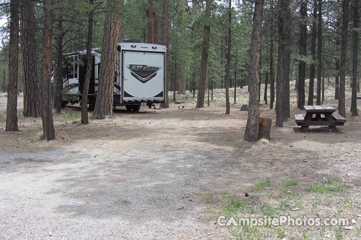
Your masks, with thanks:
<instances>
[{"instance_id":1,"label":"gravel and needle-covered campsite ground with patches of green grass","mask_svg":"<svg viewBox=\"0 0 361 240\"><path fill-rule=\"evenodd\" d=\"M336 107L328 88L324 104ZM349 112L349 92L347 122L337 132L300 132L293 114L304 112L292 90L289 121L272 123L269 142L249 143L242 140L247 112L239 111L246 89L237 90L229 115L224 89L201 109L187 92L176 96L184 108L121 107L88 125L79 124L80 108L69 106L54 115L49 142L40 139L41 118L19 112L18 132L0 130L0 239L360 239L361 119ZM269 105L260 107L275 120ZM219 215L237 213L350 222L216 224Z\"/></svg>"}]
</instances>

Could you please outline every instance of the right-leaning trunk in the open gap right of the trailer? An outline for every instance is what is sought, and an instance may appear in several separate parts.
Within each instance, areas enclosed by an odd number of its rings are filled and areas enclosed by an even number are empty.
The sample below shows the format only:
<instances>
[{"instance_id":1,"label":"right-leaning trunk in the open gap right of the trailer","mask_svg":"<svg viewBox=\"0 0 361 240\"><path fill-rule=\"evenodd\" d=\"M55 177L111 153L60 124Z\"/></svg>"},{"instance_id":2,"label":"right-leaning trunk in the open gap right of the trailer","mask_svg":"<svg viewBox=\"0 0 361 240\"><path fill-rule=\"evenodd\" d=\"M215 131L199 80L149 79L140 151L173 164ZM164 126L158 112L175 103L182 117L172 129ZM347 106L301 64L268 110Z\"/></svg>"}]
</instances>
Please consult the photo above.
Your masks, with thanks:
<instances>
[{"instance_id":1,"label":"right-leaning trunk in the open gap right of the trailer","mask_svg":"<svg viewBox=\"0 0 361 240\"><path fill-rule=\"evenodd\" d=\"M205 1L205 24L203 33L202 57L200 61L199 86L197 104L195 107L204 107L205 79L207 76L209 31L210 31L210 5L211 0Z\"/></svg>"}]
</instances>

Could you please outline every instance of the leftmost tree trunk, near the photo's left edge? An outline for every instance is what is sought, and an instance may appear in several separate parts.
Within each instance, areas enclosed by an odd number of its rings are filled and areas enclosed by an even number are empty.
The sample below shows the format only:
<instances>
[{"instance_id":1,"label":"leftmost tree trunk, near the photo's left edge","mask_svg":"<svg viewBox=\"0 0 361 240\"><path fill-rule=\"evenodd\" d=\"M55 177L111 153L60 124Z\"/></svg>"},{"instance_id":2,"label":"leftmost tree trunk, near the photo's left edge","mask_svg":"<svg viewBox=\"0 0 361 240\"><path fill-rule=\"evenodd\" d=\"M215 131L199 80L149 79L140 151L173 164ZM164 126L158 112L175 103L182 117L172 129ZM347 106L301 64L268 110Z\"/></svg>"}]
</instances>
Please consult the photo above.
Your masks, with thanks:
<instances>
[{"instance_id":1,"label":"leftmost tree trunk, near the photo's left edge","mask_svg":"<svg viewBox=\"0 0 361 240\"><path fill-rule=\"evenodd\" d=\"M10 0L10 42L9 42L9 83L7 87L5 131L18 131L17 126L17 85L19 52L19 3Z\"/></svg>"}]
</instances>

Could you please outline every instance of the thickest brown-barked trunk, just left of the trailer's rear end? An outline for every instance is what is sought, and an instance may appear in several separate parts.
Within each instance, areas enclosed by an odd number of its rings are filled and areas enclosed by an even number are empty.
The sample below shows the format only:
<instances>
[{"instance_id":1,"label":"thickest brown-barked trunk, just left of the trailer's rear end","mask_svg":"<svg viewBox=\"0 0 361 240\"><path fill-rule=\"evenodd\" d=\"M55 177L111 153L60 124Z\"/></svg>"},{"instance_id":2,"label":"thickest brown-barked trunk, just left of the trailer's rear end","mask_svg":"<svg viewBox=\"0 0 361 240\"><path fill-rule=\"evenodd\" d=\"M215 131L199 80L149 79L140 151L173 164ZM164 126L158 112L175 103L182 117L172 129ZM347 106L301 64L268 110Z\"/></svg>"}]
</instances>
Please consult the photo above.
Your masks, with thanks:
<instances>
[{"instance_id":1,"label":"thickest brown-barked trunk, just left of the trailer's rear end","mask_svg":"<svg viewBox=\"0 0 361 240\"><path fill-rule=\"evenodd\" d=\"M119 0L108 0L109 9L117 9ZM115 64L117 40L119 37L119 17L116 12L105 14L102 53L99 70L98 92L95 100L94 118L113 116L113 90L115 79Z\"/></svg>"}]
</instances>

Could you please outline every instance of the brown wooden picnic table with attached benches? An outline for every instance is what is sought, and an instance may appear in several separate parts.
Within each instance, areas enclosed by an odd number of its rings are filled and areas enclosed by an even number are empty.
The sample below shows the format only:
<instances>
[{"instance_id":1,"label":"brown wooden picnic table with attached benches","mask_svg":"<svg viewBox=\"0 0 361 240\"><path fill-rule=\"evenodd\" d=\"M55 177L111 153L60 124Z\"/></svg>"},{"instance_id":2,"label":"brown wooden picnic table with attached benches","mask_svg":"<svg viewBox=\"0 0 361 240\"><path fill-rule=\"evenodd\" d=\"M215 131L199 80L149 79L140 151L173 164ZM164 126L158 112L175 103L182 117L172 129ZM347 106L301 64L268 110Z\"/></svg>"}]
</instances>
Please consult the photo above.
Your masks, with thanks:
<instances>
[{"instance_id":1,"label":"brown wooden picnic table with attached benches","mask_svg":"<svg viewBox=\"0 0 361 240\"><path fill-rule=\"evenodd\" d=\"M294 120L304 132L308 131L309 126L328 126L332 131L336 131L336 125L343 125L346 118L340 114L332 114L335 109L327 105L305 105L306 115L295 114ZM313 116L314 115L314 116Z\"/></svg>"}]
</instances>

